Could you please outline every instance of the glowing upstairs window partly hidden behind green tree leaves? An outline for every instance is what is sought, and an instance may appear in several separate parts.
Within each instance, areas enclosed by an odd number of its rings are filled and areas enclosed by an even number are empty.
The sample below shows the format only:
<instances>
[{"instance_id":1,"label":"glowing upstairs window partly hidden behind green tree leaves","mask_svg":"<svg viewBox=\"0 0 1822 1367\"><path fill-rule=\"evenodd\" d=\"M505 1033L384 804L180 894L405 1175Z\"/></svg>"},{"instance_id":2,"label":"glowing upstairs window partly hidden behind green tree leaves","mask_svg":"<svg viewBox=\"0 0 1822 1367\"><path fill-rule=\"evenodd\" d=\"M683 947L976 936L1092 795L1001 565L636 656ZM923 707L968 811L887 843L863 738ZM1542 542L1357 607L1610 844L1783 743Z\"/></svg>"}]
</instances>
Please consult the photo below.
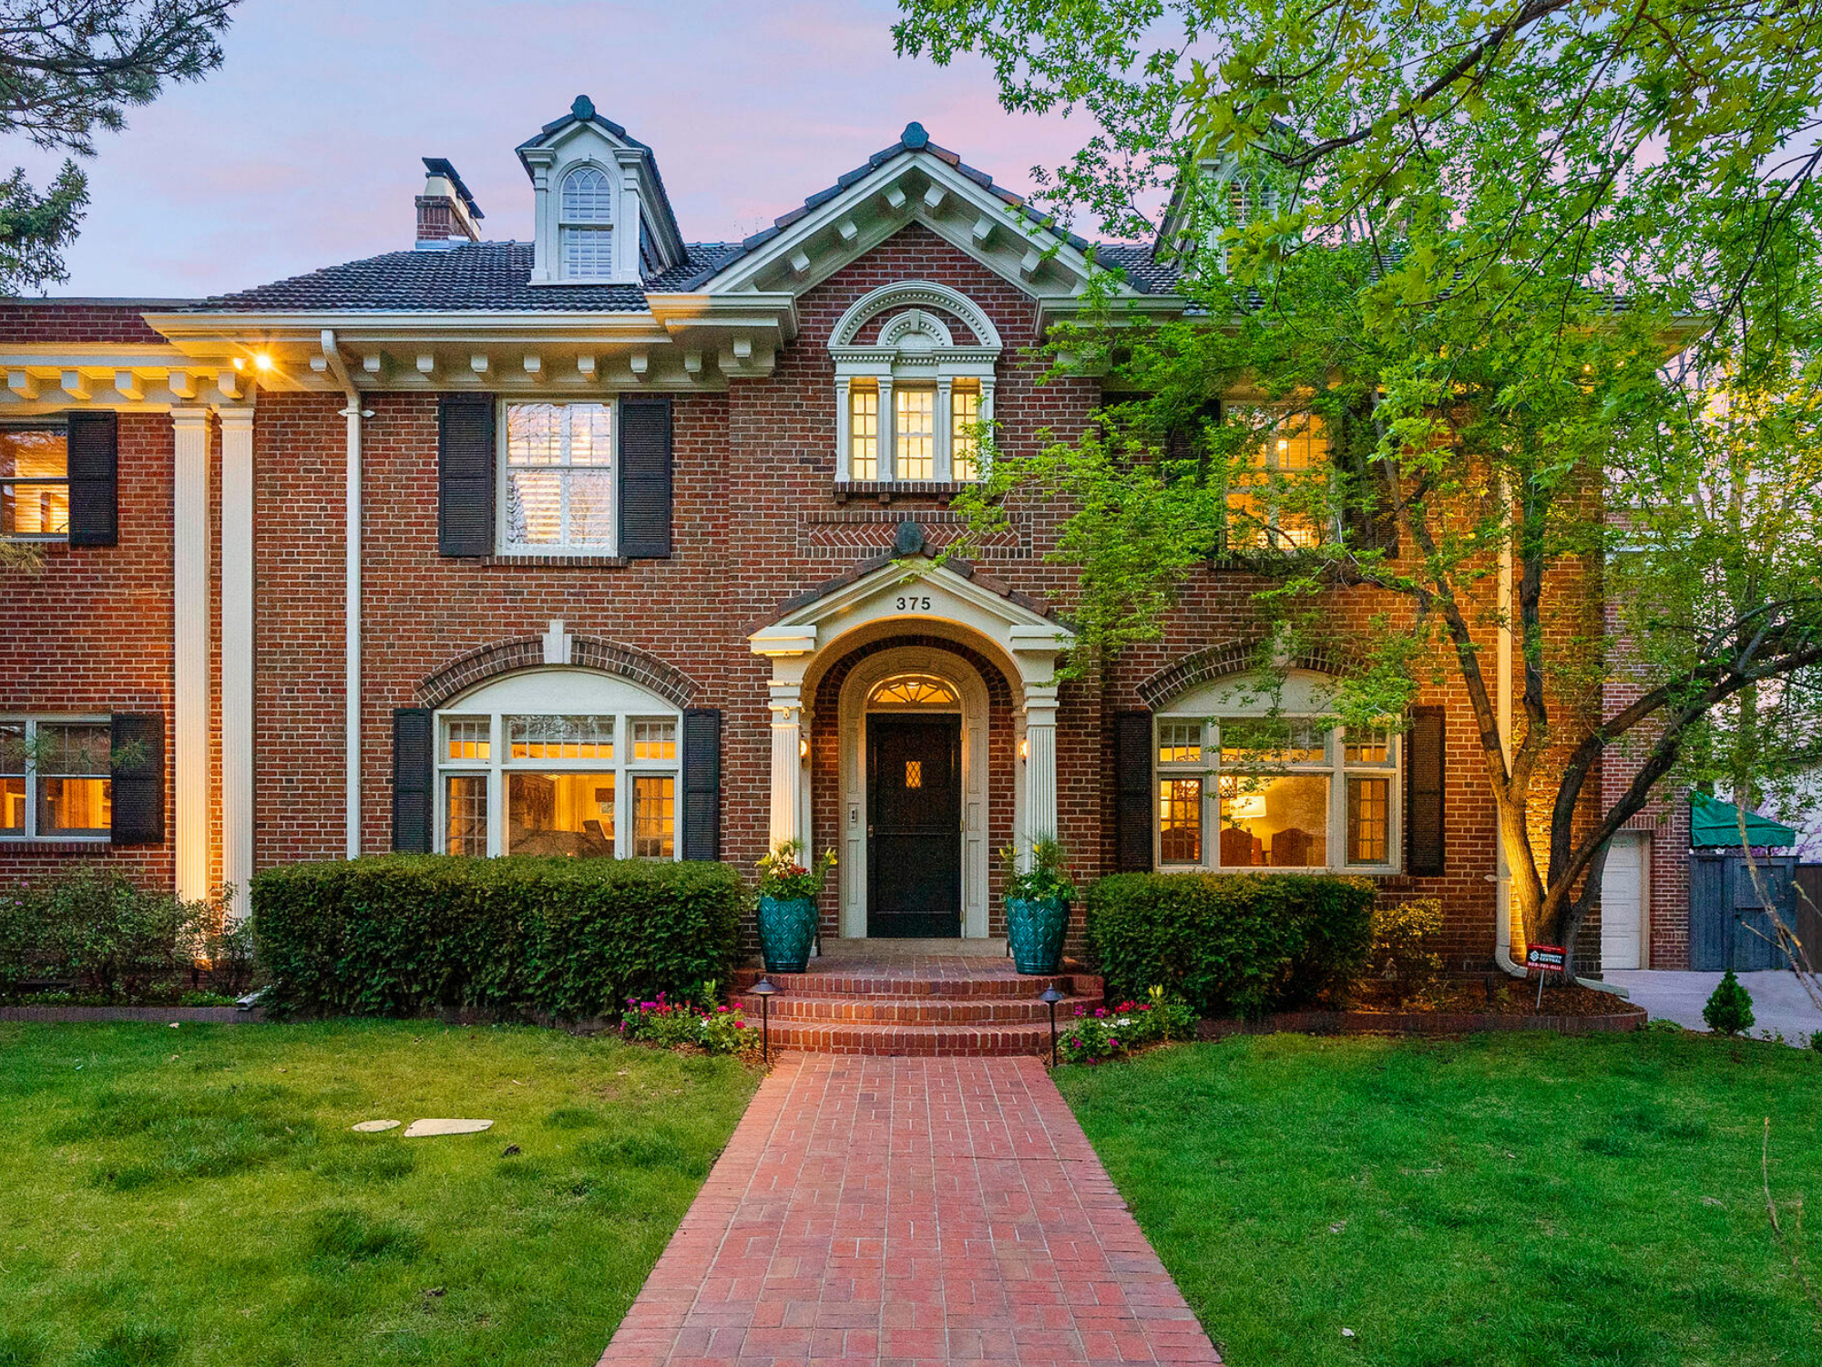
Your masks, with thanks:
<instances>
[{"instance_id":1,"label":"glowing upstairs window partly hidden behind green tree leaves","mask_svg":"<svg viewBox=\"0 0 1822 1367\"><path fill-rule=\"evenodd\" d=\"M1228 479L1228 549L1297 550L1323 540L1328 505L1328 434L1315 414L1266 405L1228 405L1228 421L1257 441L1246 467Z\"/></svg>"}]
</instances>

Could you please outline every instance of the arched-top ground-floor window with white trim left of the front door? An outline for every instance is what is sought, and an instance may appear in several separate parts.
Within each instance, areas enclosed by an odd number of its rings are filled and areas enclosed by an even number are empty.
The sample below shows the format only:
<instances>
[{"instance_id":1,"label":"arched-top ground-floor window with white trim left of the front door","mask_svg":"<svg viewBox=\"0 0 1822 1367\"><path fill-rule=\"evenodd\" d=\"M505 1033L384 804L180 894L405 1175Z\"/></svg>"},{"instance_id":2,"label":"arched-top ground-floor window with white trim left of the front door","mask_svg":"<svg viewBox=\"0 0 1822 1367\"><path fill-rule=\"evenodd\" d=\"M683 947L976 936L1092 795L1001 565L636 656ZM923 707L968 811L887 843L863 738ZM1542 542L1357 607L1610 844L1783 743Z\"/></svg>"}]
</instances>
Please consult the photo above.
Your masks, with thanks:
<instances>
[{"instance_id":1,"label":"arched-top ground-floor window with white trim left of the front door","mask_svg":"<svg viewBox=\"0 0 1822 1367\"><path fill-rule=\"evenodd\" d=\"M567 700L599 711L547 711ZM612 707L612 711L607 711ZM437 714L437 849L676 858L678 713L619 680L532 671Z\"/></svg>"}]
</instances>

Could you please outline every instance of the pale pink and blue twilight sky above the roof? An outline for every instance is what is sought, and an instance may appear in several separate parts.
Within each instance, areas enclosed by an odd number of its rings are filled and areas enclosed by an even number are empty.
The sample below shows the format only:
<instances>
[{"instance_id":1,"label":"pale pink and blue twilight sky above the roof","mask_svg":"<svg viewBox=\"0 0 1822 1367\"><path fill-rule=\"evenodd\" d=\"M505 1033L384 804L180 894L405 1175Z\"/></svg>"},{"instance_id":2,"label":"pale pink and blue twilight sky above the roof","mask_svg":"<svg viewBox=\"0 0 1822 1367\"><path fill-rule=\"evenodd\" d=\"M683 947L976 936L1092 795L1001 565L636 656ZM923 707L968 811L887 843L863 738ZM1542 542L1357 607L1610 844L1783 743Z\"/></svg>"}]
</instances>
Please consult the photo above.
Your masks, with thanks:
<instances>
[{"instance_id":1,"label":"pale pink and blue twilight sky above the roof","mask_svg":"<svg viewBox=\"0 0 1822 1367\"><path fill-rule=\"evenodd\" d=\"M87 162L53 293L204 295L408 248L419 157L490 239L530 235L512 149L587 93L647 142L685 239L734 239L891 146L911 118L1015 190L1090 137L1006 115L991 71L893 55L891 0L246 0L226 62L129 111ZM18 139L42 186L58 159ZM1090 230L1091 231L1091 230Z\"/></svg>"}]
</instances>

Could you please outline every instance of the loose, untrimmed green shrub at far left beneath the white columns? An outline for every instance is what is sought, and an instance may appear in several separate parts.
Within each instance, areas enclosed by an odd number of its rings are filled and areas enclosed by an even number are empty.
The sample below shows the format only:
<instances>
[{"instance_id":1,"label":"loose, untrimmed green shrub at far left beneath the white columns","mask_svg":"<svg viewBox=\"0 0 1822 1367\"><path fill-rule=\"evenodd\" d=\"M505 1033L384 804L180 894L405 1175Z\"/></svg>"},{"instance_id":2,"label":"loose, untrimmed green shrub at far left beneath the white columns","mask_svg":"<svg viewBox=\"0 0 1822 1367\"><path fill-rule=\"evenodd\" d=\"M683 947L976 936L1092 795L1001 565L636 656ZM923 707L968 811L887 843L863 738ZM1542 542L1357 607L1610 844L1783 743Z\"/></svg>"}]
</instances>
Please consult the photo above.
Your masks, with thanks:
<instances>
[{"instance_id":1,"label":"loose, untrimmed green shrub at far left beneath the white columns","mask_svg":"<svg viewBox=\"0 0 1822 1367\"><path fill-rule=\"evenodd\" d=\"M175 999L220 931L220 908L146 891L118 869L77 866L0 891L0 995L27 979L75 982L73 999Z\"/></svg>"}]
</instances>

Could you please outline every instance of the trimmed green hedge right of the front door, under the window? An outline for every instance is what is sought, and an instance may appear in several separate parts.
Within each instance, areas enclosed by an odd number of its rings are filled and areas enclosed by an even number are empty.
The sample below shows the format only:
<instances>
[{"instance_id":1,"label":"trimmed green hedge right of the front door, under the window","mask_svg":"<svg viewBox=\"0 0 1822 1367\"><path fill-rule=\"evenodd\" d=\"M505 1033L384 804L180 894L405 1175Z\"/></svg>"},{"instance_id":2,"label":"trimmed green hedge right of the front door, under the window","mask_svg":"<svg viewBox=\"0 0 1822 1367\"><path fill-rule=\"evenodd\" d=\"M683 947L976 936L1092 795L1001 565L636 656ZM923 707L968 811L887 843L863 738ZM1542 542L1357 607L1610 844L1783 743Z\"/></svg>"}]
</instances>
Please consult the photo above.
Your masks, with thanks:
<instances>
[{"instance_id":1,"label":"trimmed green hedge right of the front door, under the window","mask_svg":"<svg viewBox=\"0 0 1822 1367\"><path fill-rule=\"evenodd\" d=\"M1199 1015L1259 1015L1348 982L1372 946L1374 886L1319 873L1115 873L1088 889L1108 997L1162 986Z\"/></svg>"}]
</instances>

